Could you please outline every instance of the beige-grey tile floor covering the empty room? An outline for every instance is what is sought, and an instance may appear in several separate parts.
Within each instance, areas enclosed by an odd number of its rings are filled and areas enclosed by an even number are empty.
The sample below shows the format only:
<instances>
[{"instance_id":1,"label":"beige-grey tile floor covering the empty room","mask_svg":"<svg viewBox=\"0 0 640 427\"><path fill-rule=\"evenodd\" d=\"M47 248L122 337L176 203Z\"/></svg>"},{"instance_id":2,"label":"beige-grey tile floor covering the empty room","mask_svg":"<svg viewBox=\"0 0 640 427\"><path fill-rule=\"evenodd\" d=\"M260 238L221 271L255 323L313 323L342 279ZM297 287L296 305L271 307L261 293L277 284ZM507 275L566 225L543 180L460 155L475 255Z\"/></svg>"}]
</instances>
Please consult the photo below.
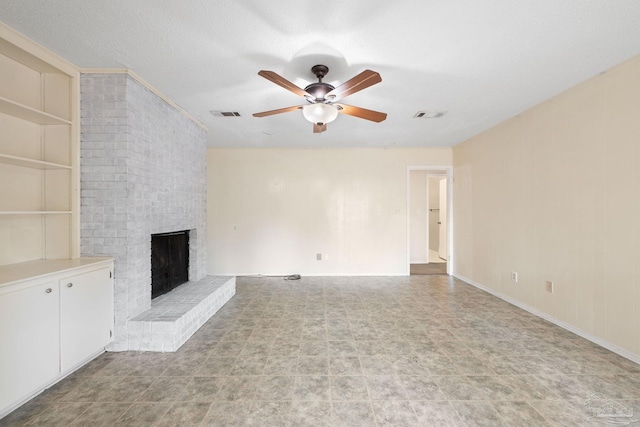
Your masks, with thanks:
<instances>
[{"instance_id":1,"label":"beige-grey tile floor covering the empty room","mask_svg":"<svg viewBox=\"0 0 640 427\"><path fill-rule=\"evenodd\" d=\"M36 426L640 425L640 365L448 276L239 278L176 353L106 353Z\"/></svg>"}]
</instances>

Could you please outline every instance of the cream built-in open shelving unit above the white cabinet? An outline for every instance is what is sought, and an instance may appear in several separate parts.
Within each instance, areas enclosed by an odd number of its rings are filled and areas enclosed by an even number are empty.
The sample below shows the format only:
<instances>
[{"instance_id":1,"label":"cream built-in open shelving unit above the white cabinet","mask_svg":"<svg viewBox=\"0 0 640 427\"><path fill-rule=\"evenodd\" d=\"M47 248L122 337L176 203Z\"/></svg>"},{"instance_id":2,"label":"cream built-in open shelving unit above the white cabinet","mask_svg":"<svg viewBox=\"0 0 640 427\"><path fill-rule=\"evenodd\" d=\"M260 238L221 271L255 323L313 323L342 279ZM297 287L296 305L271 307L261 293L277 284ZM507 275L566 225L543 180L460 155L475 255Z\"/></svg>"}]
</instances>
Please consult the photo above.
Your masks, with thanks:
<instances>
[{"instance_id":1,"label":"cream built-in open shelving unit above the white cabinet","mask_svg":"<svg viewBox=\"0 0 640 427\"><path fill-rule=\"evenodd\" d=\"M0 22L0 267L80 256L79 77Z\"/></svg>"}]
</instances>

